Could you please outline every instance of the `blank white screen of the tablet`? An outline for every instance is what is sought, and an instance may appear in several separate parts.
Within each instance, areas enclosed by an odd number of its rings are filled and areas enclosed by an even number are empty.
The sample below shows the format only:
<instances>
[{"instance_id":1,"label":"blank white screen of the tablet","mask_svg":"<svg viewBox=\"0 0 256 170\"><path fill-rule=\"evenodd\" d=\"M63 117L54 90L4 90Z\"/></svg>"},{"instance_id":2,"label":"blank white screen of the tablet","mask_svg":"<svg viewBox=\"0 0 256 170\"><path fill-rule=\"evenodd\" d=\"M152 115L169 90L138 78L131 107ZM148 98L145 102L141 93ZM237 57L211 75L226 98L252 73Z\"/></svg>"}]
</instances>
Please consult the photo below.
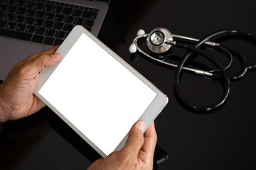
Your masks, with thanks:
<instances>
[{"instance_id":1,"label":"blank white screen of the tablet","mask_svg":"<svg viewBox=\"0 0 256 170\"><path fill-rule=\"evenodd\" d=\"M106 155L156 97L85 33L38 93Z\"/></svg>"}]
</instances>

